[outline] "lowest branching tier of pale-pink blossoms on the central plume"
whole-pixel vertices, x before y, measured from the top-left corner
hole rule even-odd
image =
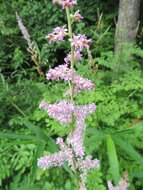
[[[52,155],[44,156],[38,159],[38,167],[42,169],[47,169],[51,167],[57,167],[64,165],[65,162],[71,167],[71,169],[78,170],[81,172],[80,178],[80,189],[86,190],[85,182],[87,173],[90,169],[98,169],[100,162],[99,160],[93,160],[91,156],[87,156],[85,159],[79,159],[77,162],[74,162],[75,156],[73,150],[68,148],[67,145],[63,142],[62,138],[57,139],[57,144],[59,144],[60,151]]]

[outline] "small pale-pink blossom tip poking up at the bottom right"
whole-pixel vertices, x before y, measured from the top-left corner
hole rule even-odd
[[[128,174],[125,173],[123,178],[121,178],[120,182],[119,182],[119,185],[118,186],[113,186],[113,184],[108,181],[108,189],[109,190],[127,190],[129,187],[129,184],[128,184]]]

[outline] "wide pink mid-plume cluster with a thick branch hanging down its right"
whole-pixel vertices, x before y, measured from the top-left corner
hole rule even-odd
[[[84,156],[84,130],[86,116],[95,111],[95,104],[84,106],[74,106],[72,103],[65,100],[56,104],[47,104],[42,101],[39,106],[48,112],[49,116],[59,121],[61,124],[69,124],[72,121],[72,116],[75,116],[76,127],[73,132],[67,137],[67,143],[72,146],[76,156]]]

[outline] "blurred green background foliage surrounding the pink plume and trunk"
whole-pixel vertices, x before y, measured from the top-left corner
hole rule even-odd
[[[89,174],[89,190],[105,190],[106,181],[116,181],[123,171],[129,172],[130,190],[143,188],[142,22],[138,44],[126,46],[120,59],[116,57],[118,3],[79,0],[78,5],[85,19],[75,30],[93,39],[94,64],[88,64],[85,52],[86,59],[77,70],[93,80],[96,89],[76,99],[79,104],[97,105],[96,113],[87,118],[85,145],[87,153],[101,160],[100,170]],[[37,74],[17,26],[16,11],[38,44],[44,73],[63,63],[69,47],[68,43],[49,45],[45,39],[52,28],[66,21],[63,11],[50,0],[0,1],[0,189],[73,190],[75,179],[66,165],[46,171],[36,166],[38,157],[57,150],[54,139],[68,133],[65,126],[39,110],[39,102],[62,99],[67,85],[48,82]],[[118,164],[115,174],[112,166]]]

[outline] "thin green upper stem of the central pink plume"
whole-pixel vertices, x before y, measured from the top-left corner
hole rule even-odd
[[[73,32],[72,32],[72,22],[71,22],[71,18],[70,18],[70,10],[67,7],[66,8],[66,14],[67,14],[67,21],[68,21],[68,32],[69,32],[69,37],[70,40],[72,40],[73,38]],[[72,81],[71,81],[71,101],[74,102],[74,47],[71,44],[71,69],[72,69]]]

